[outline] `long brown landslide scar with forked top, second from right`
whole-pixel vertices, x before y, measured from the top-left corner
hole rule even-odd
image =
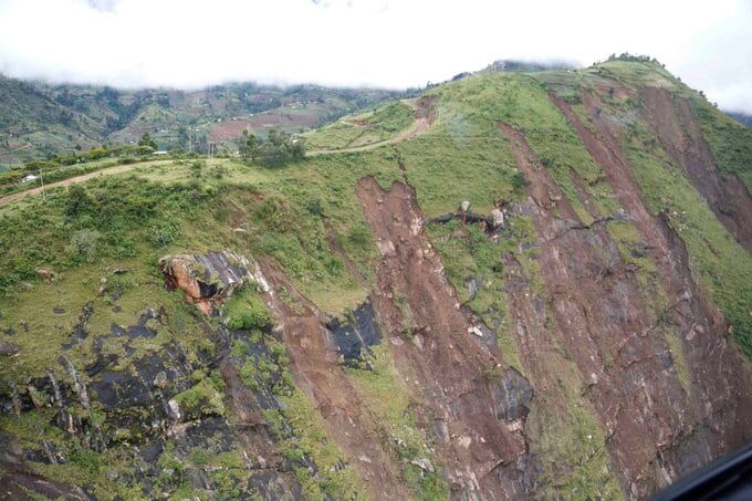
[[[661,484],[752,438],[752,376],[749,364],[730,341],[725,320],[696,284],[683,241],[662,218],[652,216],[647,209],[640,186],[620,150],[619,131],[597,119],[597,96],[583,96],[597,133],[586,127],[567,103],[553,94],[550,96],[575,128],[591,156],[604,169],[627,217],[649,243],[648,249],[657,264],[664,293],[671,305],[667,313],[682,340],[691,372],[691,394],[685,396],[676,408],[680,426],[672,428],[675,432],[665,437],[668,440],[655,442],[651,447],[655,458],[645,458],[644,468],[655,468],[658,479],[664,477]],[[650,384],[655,379],[646,377],[644,382]],[[662,403],[656,400],[658,395],[654,395],[649,386],[646,386],[645,395],[656,404]],[[650,420],[645,425],[655,426]],[[651,490],[649,486],[637,484],[635,494],[645,495]]]

